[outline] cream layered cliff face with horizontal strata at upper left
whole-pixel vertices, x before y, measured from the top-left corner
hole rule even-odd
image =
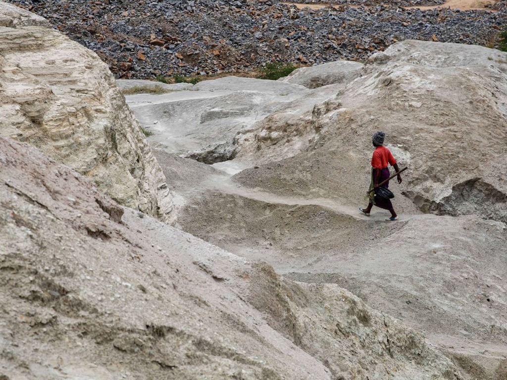
[[[107,66],[38,16],[4,3],[0,15],[0,134],[171,222],[165,177]]]

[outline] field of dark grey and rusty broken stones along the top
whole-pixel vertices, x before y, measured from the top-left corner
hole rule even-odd
[[[437,0],[340,1],[320,10],[277,0],[10,3],[95,51],[117,78],[133,79],[251,70],[269,61],[361,61],[406,39],[488,45],[505,21],[507,4],[490,7],[497,12],[461,12],[401,8]]]

